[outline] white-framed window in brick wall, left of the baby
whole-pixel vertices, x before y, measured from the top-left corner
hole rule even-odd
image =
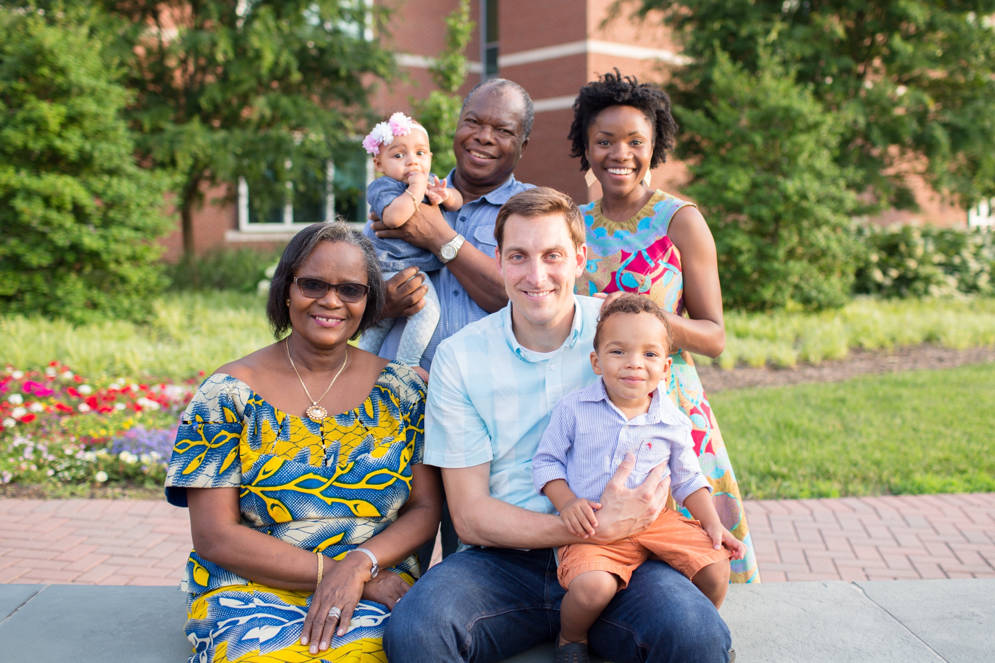
[[[371,177],[368,172],[371,164],[358,141],[327,159],[323,170],[302,164],[296,167],[288,159],[284,162],[289,177],[283,205],[273,204],[272,198],[268,200],[265,195],[254,199],[250,183],[240,177],[239,230],[248,233],[297,232],[335,216],[349,223],[364,224],[368,213],[366,185]],[[266,181],[258,185],[273,191],[277,181],[275,170],[264,170],[262,177]]]

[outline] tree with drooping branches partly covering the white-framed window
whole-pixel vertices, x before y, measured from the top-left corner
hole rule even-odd
[[[360,0],[97,2],[135,91],[138,147],[178,176],[188,254],[209,185],[246,177],[261,217],[323,198],[325,161],[353,147],[369,80],[392,70]]]

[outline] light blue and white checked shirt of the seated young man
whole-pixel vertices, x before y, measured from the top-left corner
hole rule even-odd
[[[594,382],[591,345],[601,300],[576,296],[570,335],[535,353],[511,331],[511,304],[439,345],[425,408],[425,462],[472,467],[491,462],[491,496],[554,513],[532,487],[532,456],[560,399]]]

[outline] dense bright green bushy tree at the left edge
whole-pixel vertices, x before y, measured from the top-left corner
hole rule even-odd
[[[167,182],[135,165],[130,100],[85,17],[0,7],[0,307],[141,318],[166,285]]]

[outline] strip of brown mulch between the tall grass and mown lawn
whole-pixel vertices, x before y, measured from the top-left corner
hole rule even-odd
[[[924,343],[891,351],[852,350],[846,359],[826,361],[818,366],[799,364],[791,369],[739,366],[732,371],[717,366],[699,366],[697,373],[705,391],[713,393],[750,387],[842,382],[868,373],[949,369],[986,362],[995,362],[995,347],[953,350]]]

